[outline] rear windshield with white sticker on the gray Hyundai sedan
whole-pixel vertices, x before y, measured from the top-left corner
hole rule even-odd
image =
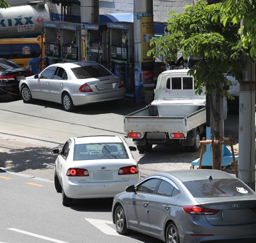
[[[238,179],[192,180],[183,182],[193,197],[247,196],[252,191]]]

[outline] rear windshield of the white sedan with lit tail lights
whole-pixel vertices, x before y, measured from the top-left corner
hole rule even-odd
[[[74,160],[128,158],[123,143],[85,143],[74,146]]]

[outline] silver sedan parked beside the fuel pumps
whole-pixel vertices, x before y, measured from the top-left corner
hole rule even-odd
[[[56,63],[19,83],[23,102],[53,101],[72,111],[77,105],[120,100],[123,81],[94,61]]]

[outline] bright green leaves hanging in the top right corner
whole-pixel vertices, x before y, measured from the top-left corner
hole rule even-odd
[[[231,20],[239,24],[243,19],[240,33],[244,47],[250,47],[251,57],[256,53],[256,1],[255,0],[226,0],[221,7],[223,24]]]

